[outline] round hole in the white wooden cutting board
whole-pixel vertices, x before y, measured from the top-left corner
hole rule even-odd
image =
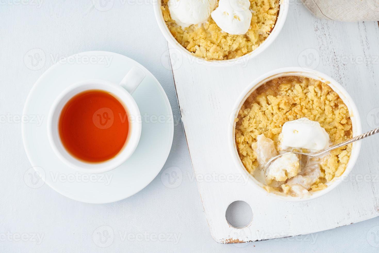
[[[237,200],[226,209],[226,221],[235,228],[244,228],[253,220],[253,211],[245,201]]]

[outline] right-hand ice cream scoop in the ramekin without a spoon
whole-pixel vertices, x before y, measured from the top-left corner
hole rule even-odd
[[[222,31],[241,35],[250,27],[252,14],[249,7],[249,0],[219,0],[211,16]]]

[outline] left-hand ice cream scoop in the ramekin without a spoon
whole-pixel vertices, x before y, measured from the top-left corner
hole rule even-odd
[[[169,0],[171,19],[182,28],[207,21],[217,0]]]

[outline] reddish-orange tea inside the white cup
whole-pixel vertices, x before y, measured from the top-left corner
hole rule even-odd
[[[122,102],[102,90],[72,97],[62,109],[58,127],[67,152],[85,162],[104,162],[116,156],[130,130]]]

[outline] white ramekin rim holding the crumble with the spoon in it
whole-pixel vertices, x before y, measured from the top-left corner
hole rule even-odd
[[[343,179],[347,178],[348,174],[350,173],[350,171],[352,170],[352,168],[354,167],[354,164],[356,163],[358,159],[361,143],[360,141],[356,141],[352,143],[351,155],[350,155],[350,159],[346,167],[346,170],[340,177],[334,178],[332,181],[328,182],[326,189],[316,191],[316,192],[311,192],[311,196],[308,198],[298,198],[298,197],[292,197],[292,196],[287,196],[287,195],[279,195],[277,193],[266,192],[266,190],[263,188],[264,185],[261,182],[259,182],[257,179],[255,179],[250,173],[248,173],[243,163],[241,162],[241,159],[240,159],[240,156],[238,155],[238,151],[235,144],[234,119],[238,116],[238,112],[240,111],[241,106],[245,102],[246,98],[259,86],[277,77],[290,76],[290,75],[300,75],[300,76],[309,77],[316,80],[321,80],[322,82],[330,82],[328,83],[330,88],[332,88],[340,96],[340,98],[343,100],[343,102],[345,102],[346,106],[349,109],[353,136],[362,134],[362,125],[361,125],[357,106],[355,105],[354,101],[352,100],[348,92],[336,80],[315,70],[307,71],[299,67],[288,67],[288,68],[276,69],[258,77],[245,88],[245,90],[238,97],[233,107],[235,108],[235,110],[233,110],[233,112],[235,113],[231,115],[231,119],[230,119],[231,120],[230,122],[233,122],[233,124],[231,124],[231,126],[229,127],[228,142],[229,142],[230,149],[232,152],[232,159],[234,160],[236,167],[241,171],[241,173],[246,173],[251,179],[249,180],[249,182],[252,185],[254,185],[254,187],[256,187],[259,191],[262,191],[266,193],[268,196],[271,196],[273,198],[277,198],[277,199],[285,200],[285,201],[297,202],[297,201],[313,200],[315,198],[318,198],[319,196],[322,196],[326,194],[327,192],[330,192],[331,190],[333,190],[335,187],[337,187],[337,185],[341,181],[344,181]]]

